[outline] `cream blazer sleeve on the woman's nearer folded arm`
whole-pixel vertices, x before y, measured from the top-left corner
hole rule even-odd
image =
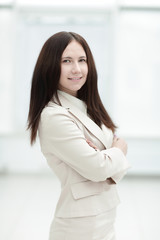
[[[51,108],[49,110],[49,107],[43,110],[39,138],[42,153],[46,158],[54,159],[56,156],[80,175],[94,182],[105,181],[112,176],[117,182],[129,167],[120,149],[113,147],[95,151],[90,147],[65,108],[63,111],[54,111]]]

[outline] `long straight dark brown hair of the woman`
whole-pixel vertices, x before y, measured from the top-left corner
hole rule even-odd
[[[86,52],[88,64],[87,80],[78,91],[77,97],[86,103],[88,114],[98,126],[101,127],[103,123],[113,132],[116,129],[99,96],[97,71],[87,42],[77,33],[59,32],[45,42],[34,68],[27,127],[27,129],[31,131],[31,144],[36,140],[40,115],[43,108],[48,104],[53,95],[55,95],[58,100],[57,90],[61,73],[60,63],[62,53],[73,40],[76,40],[83,47]]]

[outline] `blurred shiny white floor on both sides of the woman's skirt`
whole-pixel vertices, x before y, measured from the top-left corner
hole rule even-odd
[[[117,240],[160,239],[160,177],[118,186]],[[60,192],[54,175],[0,175],[0,239],[47,240]]]

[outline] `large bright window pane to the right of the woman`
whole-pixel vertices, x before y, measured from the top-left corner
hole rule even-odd
[[[121,12],[115,119],[123,134],[160,136],[160,14]]]

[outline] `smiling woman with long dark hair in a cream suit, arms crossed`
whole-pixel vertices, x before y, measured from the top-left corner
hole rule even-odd
[[[97,89],[86,41],[59,32],[44,44],[32,79],[28,128],[61,182],[50,240],[113,240],[116,183],[129,167],[127,145]]]

